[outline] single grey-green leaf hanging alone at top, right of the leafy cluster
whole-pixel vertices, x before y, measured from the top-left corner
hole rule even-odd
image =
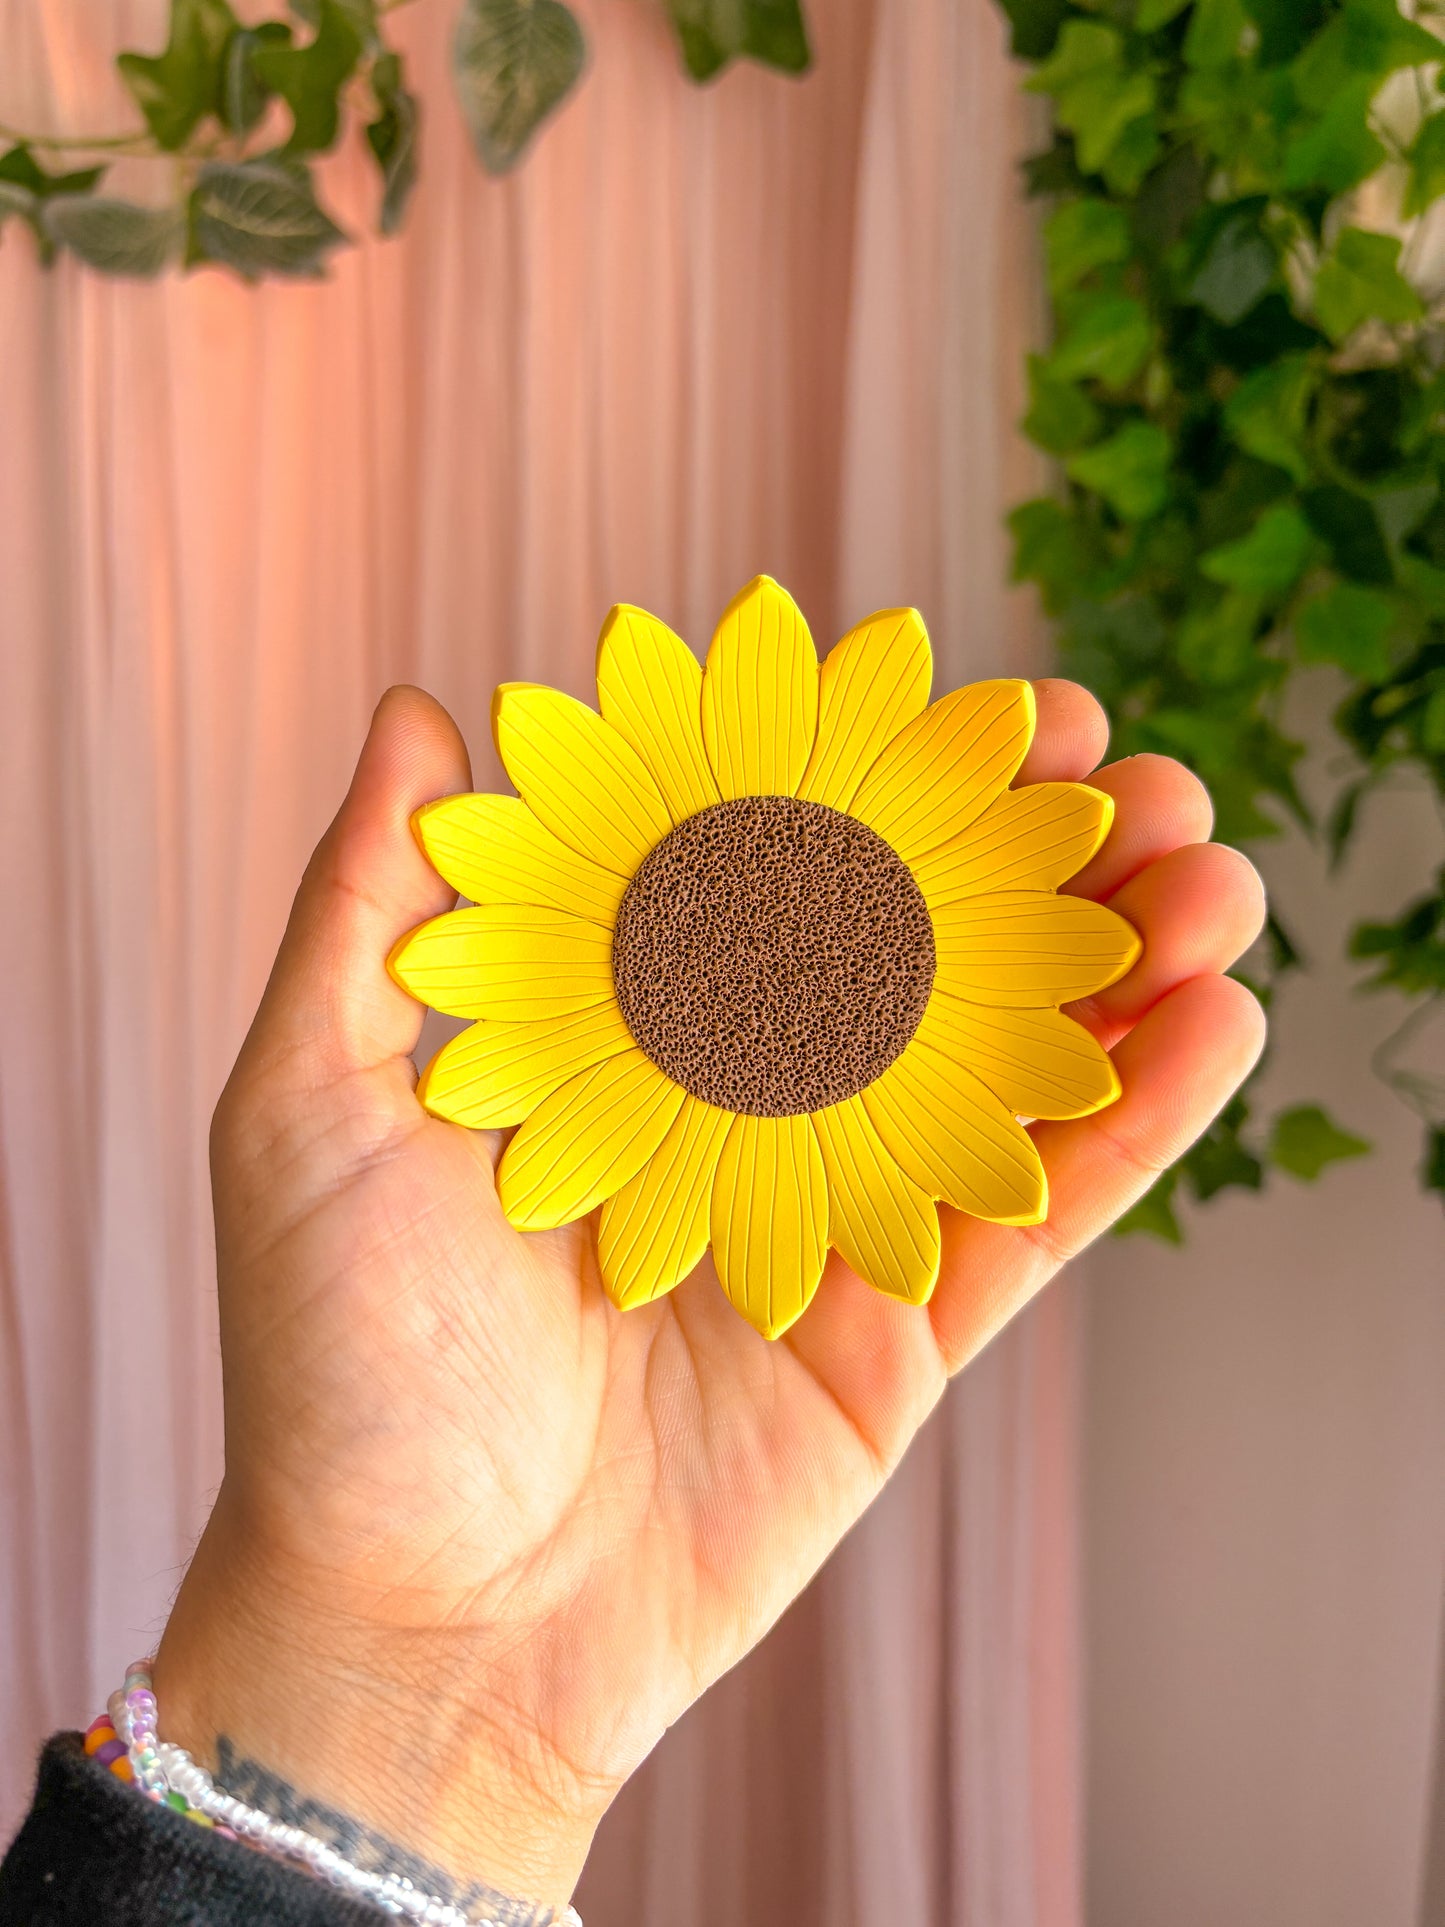
[[[561,0],[464,0],[453,75],[472,143],[489,173],[507,173],[568,96],[588,48]]]

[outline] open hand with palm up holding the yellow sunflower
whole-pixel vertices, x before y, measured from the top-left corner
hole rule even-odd
[[[1019,777],[1079,780],[1104,719],[1040,682]],[[959,1370],[1204,1129],[1258,1056],[1220,975],[1258,935],[1177,763],[1090,777],[1112,834],[1071,890],[1144,937],[1073,1006],[1121,1100],[1040,1123],[1044,1224],[940,1208],[927,1308],[836,1254],[776,1343],[711,1276],[618,1312],[590,1224],[522,1235],[497,1133],[430,1118],[393,942],[453,902],[410,811],[468,788],[449,717],[383,698],[216,1112],[225,1480],[156,1680],[168,1738],[220,1736],[464,1881],[561,1902],[665,1727],[773,1624]],[[709,1274],[711,1266],[703,1266]]]

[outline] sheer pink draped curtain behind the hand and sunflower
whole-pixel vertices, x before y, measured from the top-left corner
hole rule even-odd
[[[127,123],[164,0],[0,0],[0,119]],[[160,1626],[220,1476],[206,1123],[381,688],[590,696],[611,601],[705,644],[755,570],[827,642],[929,617],[938,686],[1040,667],[1006,592],[1037,326],[992,0],[811,0],[817,71],[697,91],[655,0],[487,181],[453,8],[405,237],[322,285],[0,249],[0,1819]],[[148,173],[133,173],[144,193]],[[356,156],[326,189],[364,231]],[[1077,1927],[1075,1310],[954,1387],[775,1636],[609,1817],[590,1927]]]

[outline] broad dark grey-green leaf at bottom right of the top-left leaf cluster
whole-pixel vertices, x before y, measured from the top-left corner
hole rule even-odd
[[[310,173],[277,160],[208,162],[191,195],[191,258],[314,279],[345,233],[316,200]]]

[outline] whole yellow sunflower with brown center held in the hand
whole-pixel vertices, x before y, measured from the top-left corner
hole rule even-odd
[[[1019,1118],[1119,1095],[1060,1004],[1121,977],[1139,938],[1056,896],[1104,840],[1081,782],[1012,790],[1027,682],[929,705],[913,609],[859,622],[819,669],[767,576],[728,605],[699,669],[642,609],[597,649],[601,715],[509,682],[493,734],[520,798],[416,813],[476,908],[405,937],[412,996],[474,1017],[422,1104],[518,1125],[497,1185],[520,1229],[601,1204],[624,1310],[713,1247],[767,1337],[803,1312],[828,1247],[923,1305],[936,1199],[1037,1224],[1044,1170]]]

